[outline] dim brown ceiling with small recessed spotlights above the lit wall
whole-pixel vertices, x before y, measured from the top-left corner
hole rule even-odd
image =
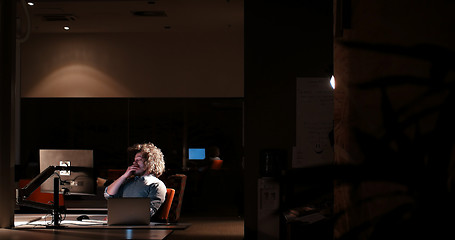
[[[31,33],[243,31],[243,0],[34,0],[17,10]]]

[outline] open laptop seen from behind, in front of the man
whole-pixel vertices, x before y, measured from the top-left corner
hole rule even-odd
[[[150,198],[107,199],[107,225],[149,225]]]

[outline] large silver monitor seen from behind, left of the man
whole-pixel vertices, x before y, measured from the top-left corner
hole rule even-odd
[[[96,180],[93,171],[93,150],[40,149],[40,171],[49,166],[77,167],[76,170],[57,170],[61,184],[59,192],[70,195],[96,194]],[[56,175],[57,176],[57,175]],[[54,176],[49,177],[42,185],[41,192],[54,192]]]

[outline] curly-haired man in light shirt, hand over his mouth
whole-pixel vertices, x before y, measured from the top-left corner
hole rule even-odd
[[[166,198],[166,185],[158,179],[164,172],[164,155],[152,143],[135,144],[128,148],[134,161],[125,173],[104,190],[104,197],[149,197],[150,217]]]

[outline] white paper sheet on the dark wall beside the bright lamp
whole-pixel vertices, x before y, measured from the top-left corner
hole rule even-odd
[[[333,89],[330,78],[297,78],[296,146],[292,167],[330,164],[333,147]]]

